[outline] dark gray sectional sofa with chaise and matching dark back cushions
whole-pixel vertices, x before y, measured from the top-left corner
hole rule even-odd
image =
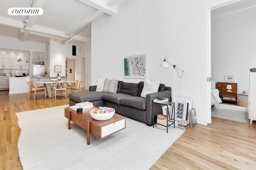
[[[140,97],[144,82],[127,83],[118,81],[117,93],[97,92],[96,86],[90,86],[89,91],[73,92],[68,95],[69,106],[74,106],[80,102],[92,102],[94,106],[112,107],[116,113],[125,117],[141,121],[148,126],[153,125],[153,117],[160,113],[160,104],[154,104],[156,98],[169,98],[171,100],[172,92],[170,87],[160,84],[158,92],[146,95],[146,98]]]

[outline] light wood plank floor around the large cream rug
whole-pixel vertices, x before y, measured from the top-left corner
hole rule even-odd
[[[68,98],[62,96],[57,100],[44,99],[43,95],[28,100],[27,93],[0,92],[0,169],[22,169],[17,148],[20,128],[16,112],[68,103]],[[151,168],[171,169],[256,169],[256,125],[212,117],[212,124],[189,128]]]

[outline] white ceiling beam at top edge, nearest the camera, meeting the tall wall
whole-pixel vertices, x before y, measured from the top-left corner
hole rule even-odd
[[[78,0],[78,1],[86,4],[87,6],[100,10],[110,16],[116,14],[116,6],[113,6],[110,8],[105,4],[99,4],[98,0]]]

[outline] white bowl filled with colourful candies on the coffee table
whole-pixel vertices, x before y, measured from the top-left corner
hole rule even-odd
[[[90,111],[90,114],[95,120],[108,120],[113,117],[115,109],[111,107],[98,107]]]

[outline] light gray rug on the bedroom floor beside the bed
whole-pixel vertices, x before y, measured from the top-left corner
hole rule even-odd
[[[245,108],[242,106],[218,104],[217,107],[212,108],[212,116],[247,123]]]

